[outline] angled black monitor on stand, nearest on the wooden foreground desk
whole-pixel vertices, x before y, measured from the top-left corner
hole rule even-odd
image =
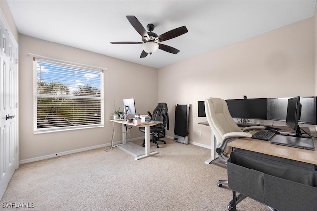
[[[298,121],[301,119],[302,104],[300,103],[300,97],[293,97],[288,99],[287,113],[286,113],[286,125],[293,130],[295,133],[282,133],[281,135],[310,138],[310,136],[303,135],[298,125]]]

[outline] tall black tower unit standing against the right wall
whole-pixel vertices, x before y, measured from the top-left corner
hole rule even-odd
[[[189,104],[175,106],[174,141],[188,144]]]

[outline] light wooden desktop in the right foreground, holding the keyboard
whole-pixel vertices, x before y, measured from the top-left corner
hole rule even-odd
[[[315,150],[299,149],[295,147],[271,144],[269,141],[262,141],[252,138],[238,138],[228,143],[228,146],[259,152],[267,155],[287,158],[305,163],[317,165],[317,140],[314,138]]]

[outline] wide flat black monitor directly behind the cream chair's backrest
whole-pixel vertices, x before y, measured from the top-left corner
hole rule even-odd
[[[267,98],[226,100],[233,118],[267,119]]]

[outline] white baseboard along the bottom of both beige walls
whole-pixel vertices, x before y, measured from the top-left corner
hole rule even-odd
[[[165,137],[166,138],[170,138],[172,140],[174,139],[174,137],[172,137],[172,136],[165,136]],[[128,139],[127,142],[136,141],[136,140],[140,140],[140,139],[144,139],[144,137],[142,136],[142,137],[137,137],[137,138],[131,138],[131,139]],[[117,145],[117,144],[121,144],[121,143],[122,143],[121,141],[116,141],[116,142],[113,142],[113,145]],[[199,146],[199,147],[204,147],[204,148],[207,148],[207,149],[211,149],[211,146],[200,144],[200,143],[196,143],[196,142],[193,142],[193,141],[189,141],[188,143],[196,145],[196,146]],[[41,161],[41,160],[54,158],[54,157],[59,157],[59,156],[63,156],[63,155],[69,155],[69,154],[73,154],[73,153],[84,152],[84,151],[88,151],[88,150],[108,147],[110,145],[111,145],[111,143],[101,144],[101,145],[85,147],[85,148],[81,148],[81,149],[75,149],[75,150],[69,150],[69,151],[54,153],[54,154],[50,154],[50,155],[39,156],[39,157],[35,157],[35,158],[28,158],[28,159],[20,160],[19,164],[26,164],[26,163],[30,163],[30,162],[34,162],[34,161]]]

